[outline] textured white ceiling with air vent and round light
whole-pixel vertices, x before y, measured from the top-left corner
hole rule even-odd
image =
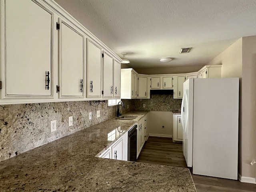
[[[129,67],[203,66],[256,35],[256,0],[56,0]],[[192,47],[188,54],[180,48]],[[162,57],[173,58],[161,63]]]

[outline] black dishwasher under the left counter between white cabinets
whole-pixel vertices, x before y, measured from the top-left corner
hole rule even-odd
[[[128,131],[128,161],[137,160],[137,125]]]

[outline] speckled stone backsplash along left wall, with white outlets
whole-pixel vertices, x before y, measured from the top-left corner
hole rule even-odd
[[[127,104],[130,101],[124,101]],[[131,105],[131,103],[129,104]],[[0,106],[0,161],[38,146],[47,144],[116,115],[116,106],[90,106],[88,101]],[[132,106],[131,106],[132,108]],[[125,111],[131,110],[125,109]],[[96,118],[96,111],[100,117]],[[89,120],[89,112],[92,119]],[[73,116],[73,126],[68,117]],[[51,132],[50,121],[56,119],[56,131]]]

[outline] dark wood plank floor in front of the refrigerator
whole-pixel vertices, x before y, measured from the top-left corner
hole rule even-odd
[[[182,144],[171,138],[149,137],[138,162],[187,167],[182,154]],[[191,173],[192,174],[192,173]],[[256,184],[192,174],[197,192],[256,192]]]

